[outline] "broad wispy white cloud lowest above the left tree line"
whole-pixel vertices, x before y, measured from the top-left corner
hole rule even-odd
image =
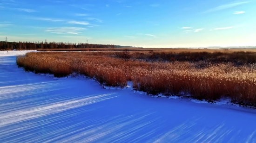
[[[46,31],[55,33],[55,34],[79,34],[80,31],[84,31],[86,28],[81,27],[55,27],[55,28],[48,28]]]

